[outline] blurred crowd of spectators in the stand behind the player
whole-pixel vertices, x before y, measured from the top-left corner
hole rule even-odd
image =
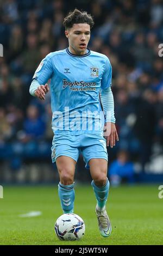
[[[89,48],[109,57],[121,150],[149,161],[154,143],[163,146],[162,0],[0,0],[0,160],[19,168],[23,157],[51,155],[51,99],[30,96],[40,61],[68,46],[62,21],[74,8],[95,20]]]

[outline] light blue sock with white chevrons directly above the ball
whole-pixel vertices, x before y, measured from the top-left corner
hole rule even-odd
[[[59,182],[58,193],[59,193],[61,208],[64,211],[64,214],[73,213],[73,206],[74,206],[74,184],[62,185]]]

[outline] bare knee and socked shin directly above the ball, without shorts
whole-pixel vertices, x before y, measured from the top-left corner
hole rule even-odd
[[[58,193],[62,210],[65,213],[73,212],[74,208],[74,172],[76,161],[71,157],[59,156],[56,160],[60,177]]]

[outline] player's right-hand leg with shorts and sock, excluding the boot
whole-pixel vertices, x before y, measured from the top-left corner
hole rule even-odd
[[[103,210],[109,192],[106,140],[102,135],[84,135],[83,141],[82,154],[86,167],[90,166],[90,173],[93,179],[92,186],[97,199],[97,209]]]

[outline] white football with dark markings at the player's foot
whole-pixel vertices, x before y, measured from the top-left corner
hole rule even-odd
[[[84,221],[77,214],[63,214],[55,222],[55,234],[60,240],[80,240],[84,233]]]

